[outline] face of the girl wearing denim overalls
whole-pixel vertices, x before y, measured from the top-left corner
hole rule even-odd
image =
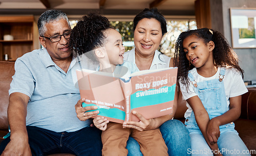
[[[205,44],[202,39],[196,36],[188,36],[183,41],[184,53],[187,60],[196,68],[214,66],[212,50],[214,42],[210,41]]]

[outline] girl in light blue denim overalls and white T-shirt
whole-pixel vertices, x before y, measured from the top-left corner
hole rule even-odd
[[[234,129],[247,92],[236,53],[217,31],[207,28],[180,34],[175,63],[187,100],[185,125],[192,154],[244,154],[247,149]],[[245,152],[246,153],[246,152]]]

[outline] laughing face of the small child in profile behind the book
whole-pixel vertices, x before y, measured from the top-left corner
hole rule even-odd
[[[123,64],[124,46],[122,44],[122,37],[120,33],[114,29],[108,29],[105,31],[105,34],[105,50],[110,64]]]

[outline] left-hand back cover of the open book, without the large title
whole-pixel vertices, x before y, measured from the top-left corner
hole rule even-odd
[[[81,98],[86,98],[83,107],[97,106],[98,116],[112,122],[123,123],[125,119],[125,96],[120,79],[113,76],[77,70]],[[95,110],[94,110],[95,111]]]

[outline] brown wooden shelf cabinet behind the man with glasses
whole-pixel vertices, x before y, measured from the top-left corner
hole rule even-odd
[[[13,40],[4,40],[5,35]],[[15,61],[39,48],[37,25],[33,16],[0,16],[0,61]]]

